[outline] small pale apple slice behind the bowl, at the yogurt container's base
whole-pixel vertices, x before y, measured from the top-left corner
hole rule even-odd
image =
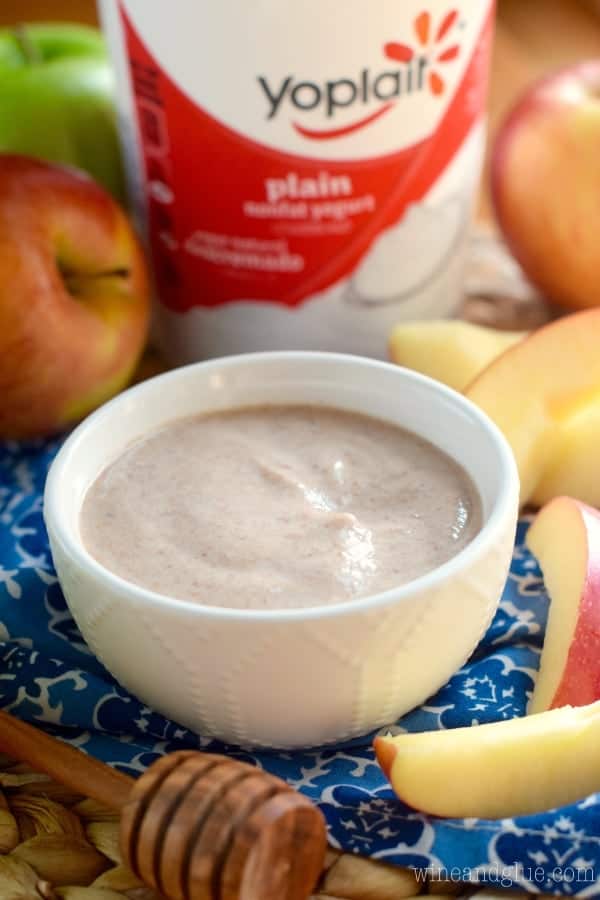
[[[459,319],[406,322],[397,325],[389,341],[390,358],[462,391],[482,369],[526,331],[498,331]]]

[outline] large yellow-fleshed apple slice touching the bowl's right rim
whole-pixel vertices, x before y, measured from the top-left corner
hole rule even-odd
[[[497,357],[466,395],[513,449],[528,503],[552,465],[561,429],[600,398],[600,309],[545,325]]]

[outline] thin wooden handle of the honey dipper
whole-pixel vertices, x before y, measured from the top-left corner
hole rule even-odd
[[[2,710],[0,750],[111,809],[122,809],[134,785],[127,775]]]

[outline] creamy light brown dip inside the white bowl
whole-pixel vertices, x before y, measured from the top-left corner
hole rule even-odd
[[[85,546],[171,597],[284,609],[410,581],[477,533],[467,474],[414,434],[326,407],[179,419],[92,484]]]

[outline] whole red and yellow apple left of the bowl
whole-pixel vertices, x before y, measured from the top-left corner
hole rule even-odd
[[[124,387],[148,318],[144,255],[110,195],[0,155],[0,437],[62,430]]]

